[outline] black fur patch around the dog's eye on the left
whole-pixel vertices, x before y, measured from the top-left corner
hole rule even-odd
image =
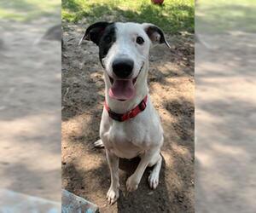
[[[102,63],[102,59],[108,54],[108,50],[112,47],[115,41],[116,41],[116,28],[114,23],[109,23],[109,25],[104,30],[98,45],[100,49],[99,56],[100,56],[101,63]]]

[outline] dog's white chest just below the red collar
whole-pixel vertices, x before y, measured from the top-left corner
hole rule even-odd
[[[100,135],[105,147],[119,158],[134,158],[154,147],[162,136],[160,123],[143,117],[141,113],[126,123],[109,122],[103,112]]]

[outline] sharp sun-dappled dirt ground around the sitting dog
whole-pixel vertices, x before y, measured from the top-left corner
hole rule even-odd
[[[86,26],[63,23],[62,49],[62,187],[100,207],[101,212],[194,212],[194,37],[166,35],[172,49],[151,50],[148,83],[165,131],[160,185],[148,187],[149,170],[136,192],[125,180],[137,160],[119,166],[120,198],[108,205],[110,173],[104,149],[96,149],[104,101],[98,49],[79,38]]]

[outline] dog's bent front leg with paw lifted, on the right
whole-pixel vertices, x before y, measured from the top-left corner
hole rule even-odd
[[[152,159],[156,158],[159,155],[158,150],[150,150],[145,152],[141,156],[141,161],[137,166],[135,172],[127,179],[126,188],[128,192],[135,191],[138,187],[139,182],[143,177],[143,173],[146,170],[148,164],[152,161]]]

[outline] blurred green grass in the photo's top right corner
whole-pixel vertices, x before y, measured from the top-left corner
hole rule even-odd
[[[219,33],[256,32],[255,0],[199,0],[196,5],[196,31]]]

